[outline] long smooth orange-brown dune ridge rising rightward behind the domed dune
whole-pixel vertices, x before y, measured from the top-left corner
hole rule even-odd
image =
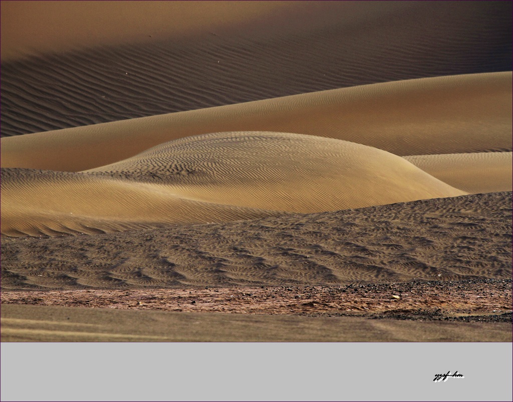
[[[400,156],[510,151],[511,78],[499,72],[371,84],[2,138],[1,163],[80,171],[170,140],[242,130],[336,138]]]

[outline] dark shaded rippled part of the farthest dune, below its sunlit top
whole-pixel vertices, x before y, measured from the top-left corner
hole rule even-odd
[[[127,37],[125,45],[5,62],[1,134],[511,70],[511,2],[304,3],[303,15],[293,4],[260,22],[227,21],[223,32],[140,45]]]

